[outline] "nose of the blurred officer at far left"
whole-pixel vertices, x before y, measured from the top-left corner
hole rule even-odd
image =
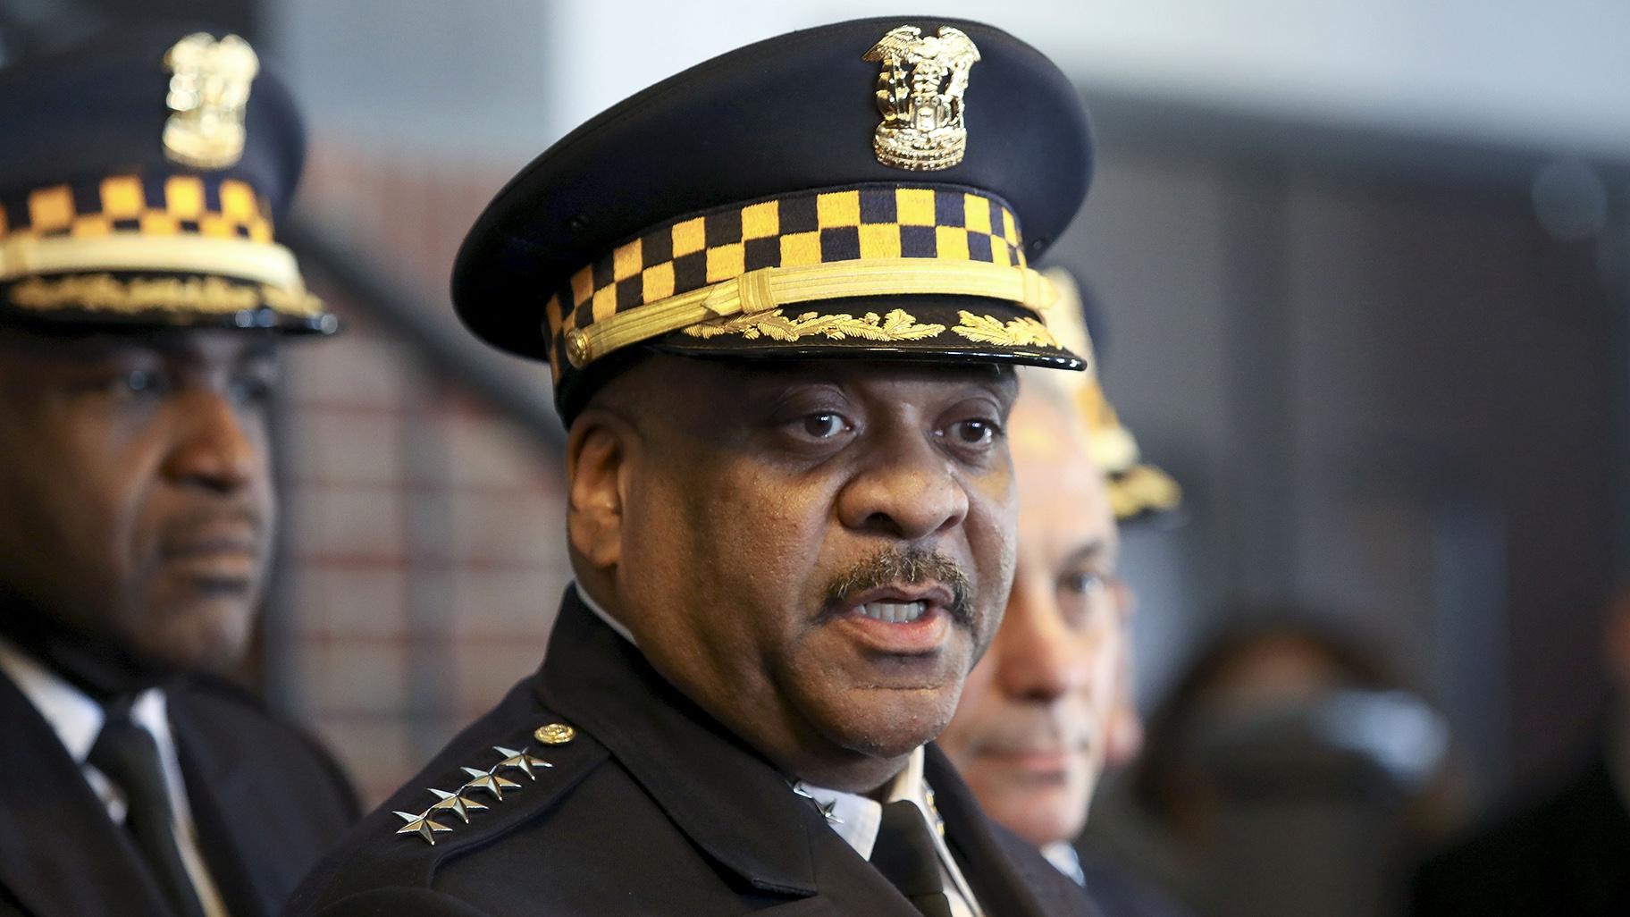
[[[189,390],[176,403],[178,432],[165,460],[165,475],[176,483],[231,493],[248,488],[261,473],[262,437],[256,419],[246,419],[222,392]]]

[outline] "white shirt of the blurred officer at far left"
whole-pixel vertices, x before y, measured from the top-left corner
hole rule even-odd
[[[108,817],[122,826],[129,808],[124,791],[85,760],[101,733],[104,718],[101,705],[5,640],[0,640],[0,672],[51,723],[68,757],[80,765],[80,773],[85,775],[91,791],[108,808]],[[204,865],[204,857],[199,853],[197,826],[192,822],[187,788],[181,780],[176,739],[170,734],[165,692],[148,689],[139,693],[130,705],[130,720],[147,729],[158,742],[158,759],[165,770],[165,785],[170,790],[171,831],[176,834],[176,847],[181,848],[181,862],[186,865],[192,888],[204,906],[204,917],[230,917],[227,906],[222,904],[220,891]]]

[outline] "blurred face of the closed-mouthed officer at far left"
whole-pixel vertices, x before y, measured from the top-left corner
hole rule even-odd
[[[134,664],[218,667],[272,543],[272,341],[0,330],[0,589]]]

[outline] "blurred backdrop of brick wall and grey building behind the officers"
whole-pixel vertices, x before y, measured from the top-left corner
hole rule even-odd
[[[1180,525],[1126,534],[1144,708],[1211,635],[1307,622],[1423,705],[1415,733],[1382,723],[1454,773],[1451,822],[1566,769],[1606,716],[1602,609],[1630,560],[1630,5],[932,10],[1037,44],[1094,116],[1092,194],[1048,261],[1094,290],[1105,388],[1187,491]],[[280,235],[349,331],[290,348],[280,586],[244,677],[368,801],[536,666],[569,581],[546,374],[447,303],[465,230],[619,98],[880,11],[0,0],[7,55],[108,20],[214,23],[303,103]]]

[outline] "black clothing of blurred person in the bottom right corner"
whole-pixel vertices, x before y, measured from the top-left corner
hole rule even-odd
[[[1630,811],[1604,757],[1562,793],[1430,860],[1418,917],[1630,914]]]

